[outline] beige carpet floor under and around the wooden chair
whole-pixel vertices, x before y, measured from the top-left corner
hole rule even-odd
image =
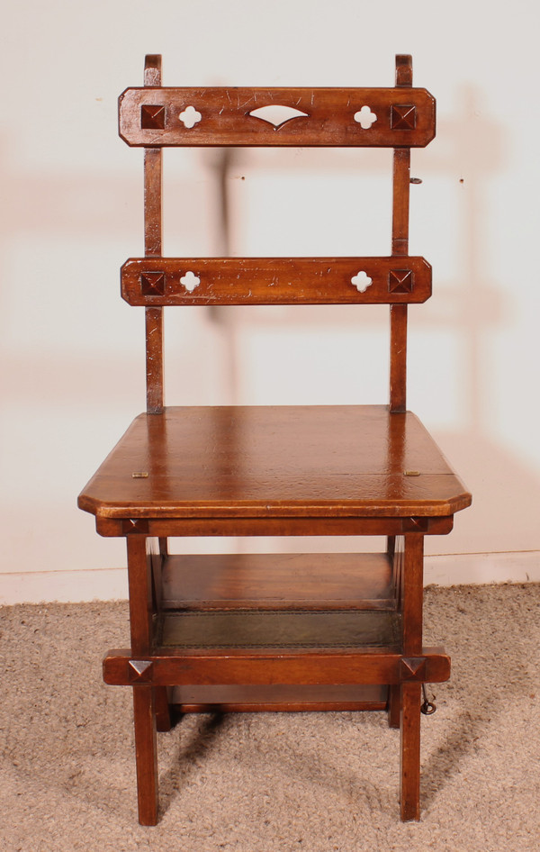
[[[540,849],[540,585],[430,588],[453,676],[422,720],[422,819],[398,818],[383,713],[188,716],[137,822],[130,691],[101,681],[125,603],[0,608],[2,852]]]

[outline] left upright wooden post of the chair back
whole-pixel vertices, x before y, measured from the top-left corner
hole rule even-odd
[[[161,86],[161,57],[145,59],[144,85]],[[161,257],[162,210],[161,148],[144,150],[144,254],[145,258]],[[145,308],[147,412],[163,412],[163,308]]]

